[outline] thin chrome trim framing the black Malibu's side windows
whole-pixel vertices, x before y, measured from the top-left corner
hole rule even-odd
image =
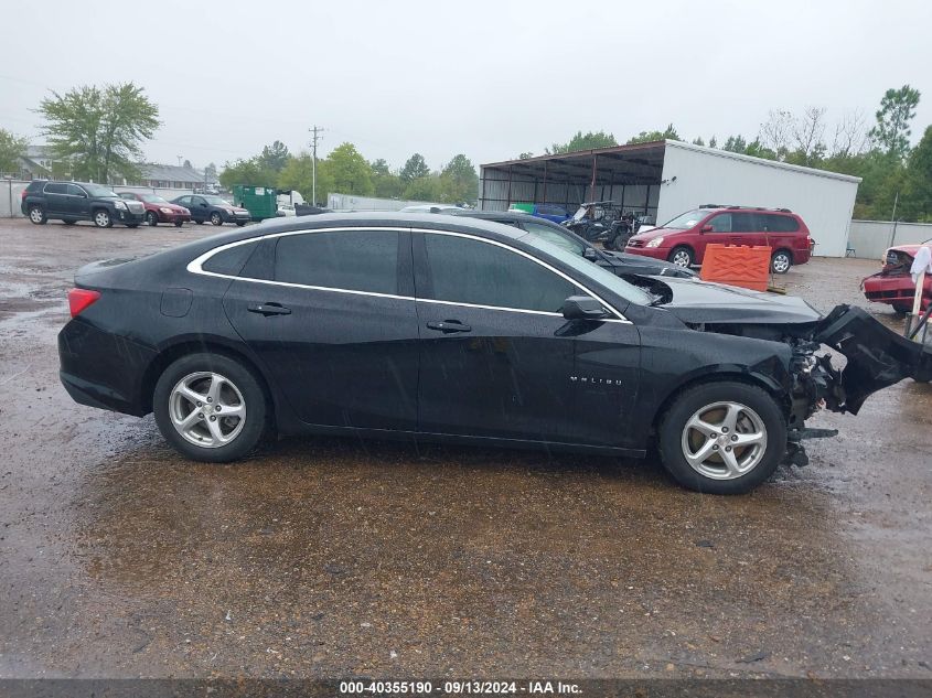
[[[559,269],[554,268],[553,266],[550,266],[546,261],[544,261],[542,259],[537,259],[536,257],[534,257],[533,255],[528,255],[524,250],[516,249],[514,247],[511,247],[511,246],[505,245],[504,243],[500,243],[497,240],[490,240],[490,239],[484,238],[484,237],[479,237],[479,236],[475,236],[475,235],[469,235],[469,234],[465,234],[465,233],[454,233],[454,232],[451,232],[451,230],[435,230],[432,228],[409,228],[409,227],[400,227],[400,226],[354,226],[354,227],[342,227],[341,226],[341,227],[331,227],[331,228],[311,228],[311,229],[301,229],[301,230],[286,230],[283,233],[270,233],[268,235],[260,235],[258,237],[249,237],[249,238],[246,238],[245,240],[236,240],[235,243],[227,243],[226,245],[221,245],[219,247],[214,247],[213,249],[208,249],[206,253],[195,257],[190,262],[188,262],[188,266],[185,267],[185,269],[189,273],[196,273],[196,275],[201,275],[201,276],[205,276],[205,277],[215,277],[217,279],[229,279],[229,280],[235,280],[235,281],[249,281],[251,283],[264,283],[266,286],[283,286],[286,288],[308,289],[310,291],[330,291],[330,292],[333,292],[333,293],[350,293],[352,296],[369,296],[369,297],[373,297],[373,298],[388,298],[388,299],[393,299],[393,300],[403,300],[403,301],[421,301],[424,303],[435,303],[435,304],[441,304],[441,305],[460,305],[460,307],[463,307],[463,308],[478,308],[478,309],[482,309],[482,310],[501,310],[501,311],[504,311],[504,312],[527,313],[527,314],[533,314],[533,315],[549,315],[549,316],[555,316],[555,318],[563,318],[561,313],[543,311],[543,310],[527,310],[525,308],[505,308],[505,307],[502,307],[502,305],[479,305],[479,304],[475,304],[475,303],[461,303],[461,302],[458,302],[458,301],[444,301],[444,300],[432,299],[432,298],[417,298],[417,297],[414,297],[414,296],[397,296],[397,294],[394,294],[394,293],[378,293],[378,292],[375,292],[375,291],[357,291],[355,289],[338,289],[338,288],[332,288],[332,287],[328,287],[328,286],[311,286],[311,284],[307,284],[307,283],[292,283],[290,281],[275,281],[272,279],[254,279],[251,277],[237,277],[237,276],[234,276],[234,275],[231,275],[231,273],[219,273],[219,272],[216,272],[216,271],[206,271],[203,268],[204,262],[207,261],[214,255],[218,255],[219,253],[225,251],[227,249],[233,249],[234,247],[239,247],[240,245],[250,245],[250,244],[254,244],[254,243],[256,245],[259,245],[266,239],[272,239],[272,238],[277,238],[277,237],[288,237],[288,236],[291,236],[291,235],[307,235],[307,234],[311,234],[311,233],[333,233],[333,232],[344,232],[344,230],[363,230],[363,232],[384,230],[384,232],[389,232],[389,233],[431,233],[431,234],[439,234],[439,235],[449,235],[449,236],[452,236],[452,237],[465,237],[465,238],[470,238],[470,239],[473,239],[473,240],[479,240],[480,243],[488,243],[490,245],[495,245],[497,247],[502,247],[502,248],[507,249],[512,253],[515,253],[516,255],[521,255],[523,257],[526,257],[527,259],[531,259],[532,261],[540,265],[542,267],[549,269],[550,271],[553,271],[557,276],[561,277],[566,281],[569,281],[574,286],[582,289],[586,293],[588,293],[589,296],[591,296],[592,298],[598,300],[600,303],[602,303],[602,305],[608,308],[609,311],[611,311],[614,315],[617,315],[617,318],[608,318],[608,319],[602,320],[601,322],[619,322],[619,323],[624,323],[624,324],[632,324],[630,320],[628,320],[624,315],[622,315],[610,303],[606,302],[598,293],[593,293],[588,288],[586,288],[583,284],[581,284],[579,281],[577,281],[576,279],[572,279],[571,277],[564,273]]]

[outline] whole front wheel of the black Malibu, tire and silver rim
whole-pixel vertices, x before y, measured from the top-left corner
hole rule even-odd
[[[696,426],[697,417],[704,426]],[[674,480],[709,494],[753,490],[786,452],[786,420],[775,400],[761,388],[731,380],[684,390],[663,416],[657,436],[661,462]],[[740,452],[731,445],[736,436],[749,440]],[[750,441],[754,436],[758,440]]]

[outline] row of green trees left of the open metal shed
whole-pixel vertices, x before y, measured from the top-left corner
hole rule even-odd
[[[226,163],[219,181],[227,189],[253,184],[296,190],[310,201],[313,161],[308,152],[292,155],[277,140],[251,158]],[[479,175],[462,153],[437,171],[431,171],[420,153],[414,153],[404,167],[393,170],[384,159],[368,161],[353,143],[344,142],[317,162],[318,202],[326,202],[331,193],[473,205],[479,193]]]

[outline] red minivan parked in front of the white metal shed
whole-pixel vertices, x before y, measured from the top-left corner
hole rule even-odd
[[[773,250],[770,266],[776,273],[807,262],[813,245],[806,224],[789,208],[709,205],[633,235],[624,251],[692,267],[703,264],[709,243],[769,246]]]

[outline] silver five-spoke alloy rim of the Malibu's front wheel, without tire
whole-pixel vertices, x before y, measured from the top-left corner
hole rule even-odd
[[[767,452],[767,427],[740,402],[713,402],[686,421],[683,455],[689,466],[711,480],[736,480],[751,472]]]

